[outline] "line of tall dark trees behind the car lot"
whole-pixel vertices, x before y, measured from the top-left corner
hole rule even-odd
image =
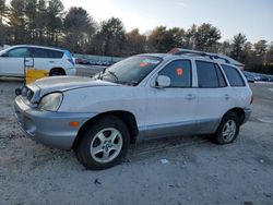
[[[167,52],[180,47],[222,52],[246,69],[273,74],[273,43],[254,44],[244,34],[221,43],[221,31],[211,24],[190,28],[157,26],[145,35],[127,32],[117,17],[96,23],[83,8],[68,12],[60,0],[0,0],[0,45],[35,44],[70,49],[71,52],[128,57]]]

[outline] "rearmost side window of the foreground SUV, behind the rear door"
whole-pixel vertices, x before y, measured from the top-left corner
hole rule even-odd
[[[246,86],[245,81],[242,80],[239,71],[233,67],[228,67],[225,64],[222,64],[222,68],[224,69],[227,80],[233,87],[241,87]]]

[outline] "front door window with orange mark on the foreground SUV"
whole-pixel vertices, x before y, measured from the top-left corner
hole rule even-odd
[[[170,79],[170,87],[191,87],[191,62],[189,60],[176,60],[167,64],[159,75]]]

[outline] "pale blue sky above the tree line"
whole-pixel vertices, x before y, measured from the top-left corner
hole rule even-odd
[[[127,31],[141,33],[155,26],[182,27],[211,23],[222,32],[222,40],[241,32],[248,40],[273,41],[273,0],[62,0],[68,9],[83,7],[100,22],[119,17]]]

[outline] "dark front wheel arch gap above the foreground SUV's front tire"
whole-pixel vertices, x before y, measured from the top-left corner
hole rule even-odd
[[[106,111],[103,113],[99,113],[95,116],[94,118],[87,120],[79,130],[76,137],[74,140],[74,143],[72,145],[72,148],[75,148],[78,143],[81,140],[82,133],[85,131],[87,126],[91,124],[95,123],[98,119],[105,118],[107,116],[115,116],[122,120],[124,124],[128,126],[129,133],[130,133],[130,144],[134,144],[136,141],[136,136],[139,134],[139,129],[136,124],[136,120],[133,113],[129,111],[123,111],[123,110],[112,110],[112,111]]]

